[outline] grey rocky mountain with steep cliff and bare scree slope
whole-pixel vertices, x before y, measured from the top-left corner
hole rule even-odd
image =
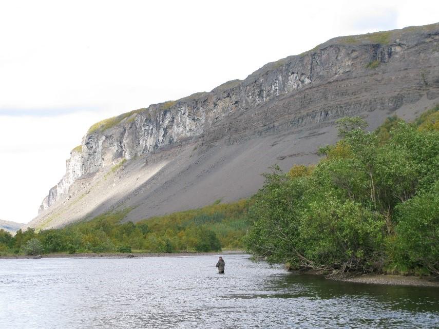
[[[90,127],[50,189],[35,228],[107,211],[126,220],[253,195],[261,173],[318,160],[335,120],[414,119],[439,103],[439,24],[336,37],[211,92]]]

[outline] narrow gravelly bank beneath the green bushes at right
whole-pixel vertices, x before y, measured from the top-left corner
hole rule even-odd
[[[389,284],[389,285],[414,285],[424,287],[439,287],[439,281],[432,278],[421,278],[416,276],[400,276],[389,274],[365,274],[358,277],[334,279],[337,281],[369,283],[369,284]]]

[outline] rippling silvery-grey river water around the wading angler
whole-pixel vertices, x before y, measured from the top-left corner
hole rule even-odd
[[[439,289],[294,275],[248,255],[0,260],[0,327],[439,328]]]

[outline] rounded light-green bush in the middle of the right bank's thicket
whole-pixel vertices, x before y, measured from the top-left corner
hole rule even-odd
[[[351,200],[328,194],[303,211],[298,246],[313,267],[372,272],[382,264],[384,220]]]

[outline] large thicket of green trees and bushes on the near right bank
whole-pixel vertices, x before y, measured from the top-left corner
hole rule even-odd
[[[339,120],[343,138],[315,167],[265,175],[247,249],[291,268],[439,275],[437,109],[412,125],[389,118],[375,132]]]

